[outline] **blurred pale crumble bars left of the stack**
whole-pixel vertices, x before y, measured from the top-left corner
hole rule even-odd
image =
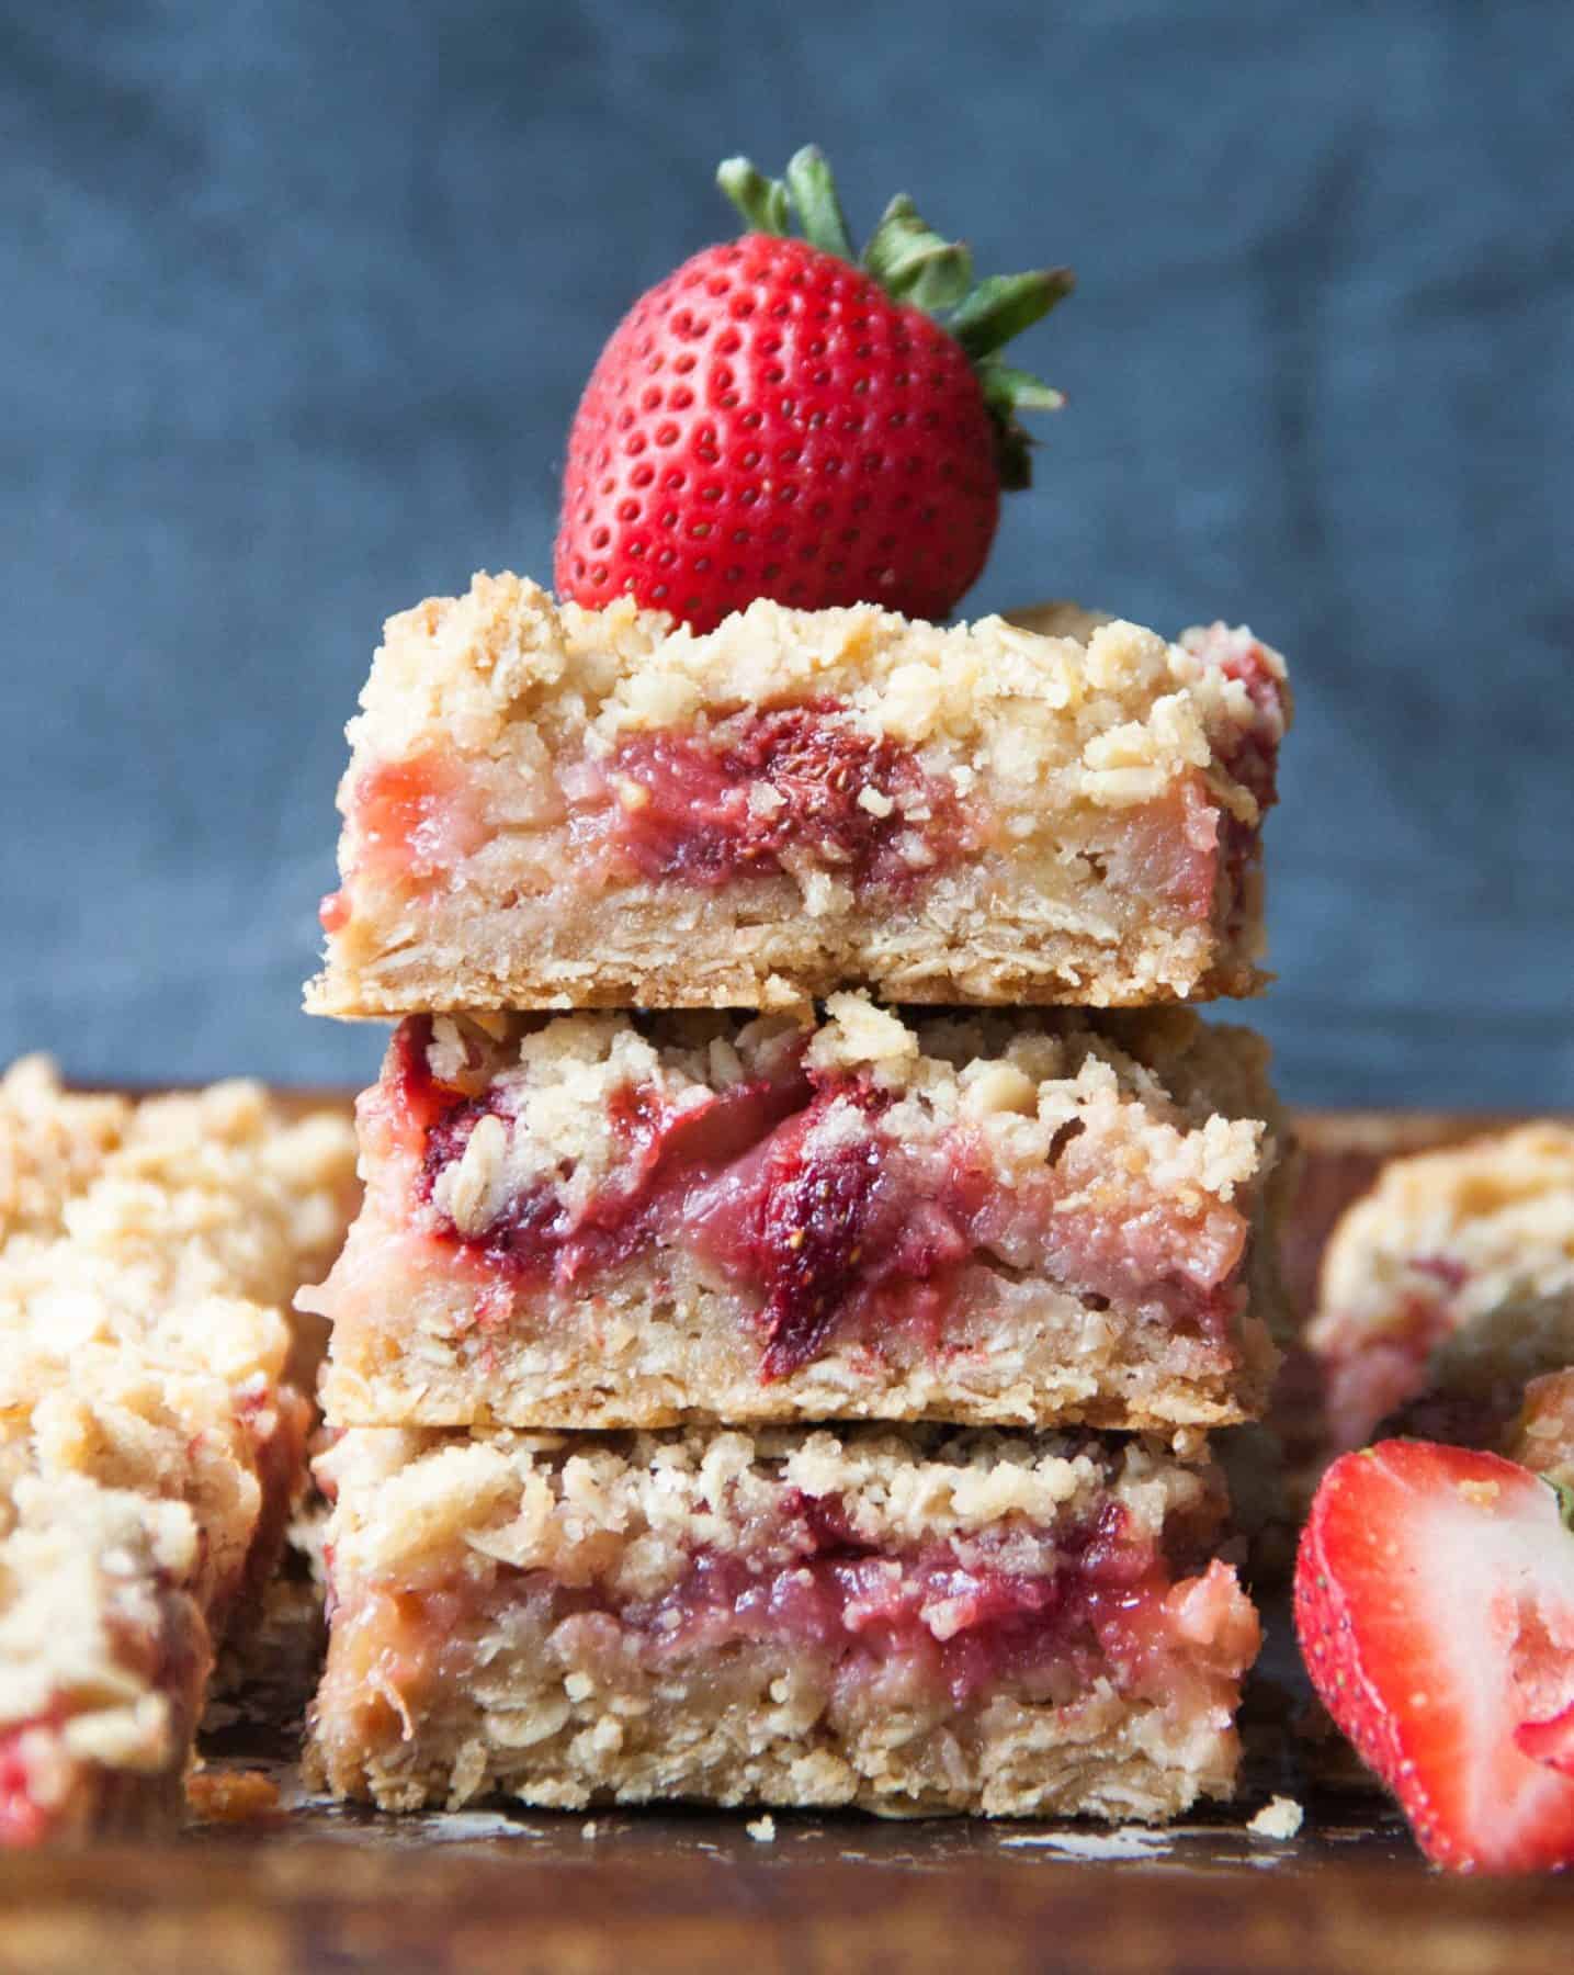
[[[288,1298],[352,1203],[348,1120],[255,1084],[0,1078],[0,1843],[178,1807],[306,1479]]]

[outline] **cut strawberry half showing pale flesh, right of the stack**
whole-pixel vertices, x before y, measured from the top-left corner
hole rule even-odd
[[[1311,1683],[1461,1872],[1574,1864],[1574,1505],[1499,1454],[1384,1440],[1323,1475],[1296,1560]]]

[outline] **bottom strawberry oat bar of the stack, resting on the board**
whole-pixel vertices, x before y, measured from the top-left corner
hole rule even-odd
[[[357,1428],[318,1471],[338,1795],[1157,1821],[1234,1785],[1258,1618],[1219,1471],[1159,1442]]]

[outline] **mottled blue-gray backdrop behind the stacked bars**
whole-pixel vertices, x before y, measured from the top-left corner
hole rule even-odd
[[[359,1078],[296,989],[381,618],[545,573],[600,338],[808,136],[1070,391],[978,608],[1246,618],[1309,1102],[1574,1104],[1566,0],[0,0],[0,1053]]]

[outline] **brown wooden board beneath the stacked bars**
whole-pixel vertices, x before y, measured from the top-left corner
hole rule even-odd
[[[1384,1155],[1485,1122],[1301,1118],[1298,1298]],[[393,1819],[314,1801],[290,1760],[310,1665],[298,1633],[280,1637],[269,1679],[209,1738],[211,1772],[267,1774],[280,1809],[158,1847],[0,1858],[0,1975],[1570,1967],[1574,1876],[1430,1872],[1382,1797],[1288,1732],[1299,1695],[1282,1608],[1268,1633],[1238,1805],[1157,1833],[778,1813],[768,1841],[745,1815]],[[1305,1807],[1290,1843],[1246,1831],[1272,1791]]]

